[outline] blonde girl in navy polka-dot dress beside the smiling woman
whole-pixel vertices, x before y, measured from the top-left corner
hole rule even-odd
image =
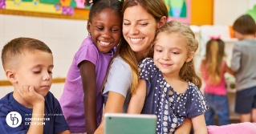
[[[207,133],[203,113],[208,107],[193,63],[197,48],[189,26],[167,22],[156,31],[153,59],[139,64],[140,81],[128,113],[155,114],[157,134],[174,133],[185,118],[191,118],[194,133]]]

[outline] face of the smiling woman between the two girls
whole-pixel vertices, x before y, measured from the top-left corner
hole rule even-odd
[[[143,55],[155,37],[158,23],[142,6],[124,11],[123,35],[136,55]]]

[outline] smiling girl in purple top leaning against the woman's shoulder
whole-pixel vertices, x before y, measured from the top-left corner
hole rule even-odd
[[[100,125],[103,114],[103,96],[100,87],[114,54],[113,47],[120,42],[123,2],[94,0],[87,30],[76,52],[59,103],[71,133],[92,134]]]

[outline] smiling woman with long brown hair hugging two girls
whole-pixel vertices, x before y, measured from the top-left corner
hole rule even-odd
[[[156,30],[168,17],[163,0],[126,0],[123,35],[104,82],[104,113],[126,113],[130,95],[139,81],[138,63],[149,53]],[[95,133],[104,133],[104,121]]]

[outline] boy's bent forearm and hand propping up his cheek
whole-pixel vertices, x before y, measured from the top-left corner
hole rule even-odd
[[[18,94],[22,99],[26,100],[27,103],[33,106],[32,119],[34,118],[44,118],[44,102],[45,99],[43,95],[35,92],[34,87],[32,86],[23,86],[18,89]],[[35,116],[37,115],[37,116]],[[35,124],[33,124],[35,123]],[[42,134],[43,133],[43,120],[31,120],[30,128],[26,132],[27,134]]]

